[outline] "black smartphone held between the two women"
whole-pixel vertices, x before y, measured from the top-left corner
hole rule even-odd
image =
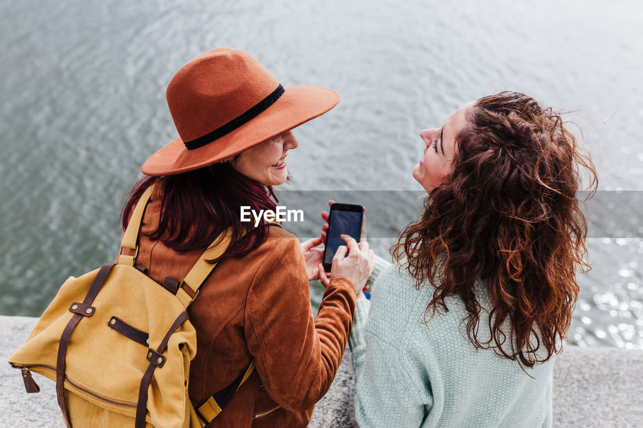
[[[326,231],[326,242],[323,250],[323,268],[330,272],[332,258],[335,256],[340,245],[346,245],[346,241],[340,235],[349,235],[359,242],[361,235],[361,223],[364,218],[364,207],[354,204],[332,204],[331,213],[328,217],[328,230]]]

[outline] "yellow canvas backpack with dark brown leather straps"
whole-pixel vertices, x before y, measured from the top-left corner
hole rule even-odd
[[[118,264],[70,277],[33,332],[9,359],[27,392],[40,391],[31,371],[56,382],[65,424],[75,427],[184,427],[209,424],[248,379],[254,366],[194,409],[188,397],[197,351],[186,309],[230,244],[228,231],[199,258],[182,282],[163,287],[135,267],[147,188],[123,234]]]

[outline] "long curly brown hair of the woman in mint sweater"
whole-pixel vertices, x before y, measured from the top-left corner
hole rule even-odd
[[[401,265],[418,289],[426,280],[435,288],[425,321],[458,296],[476,348],[532,367],[559,352],[579,292],[575,274],[590,270],[586,199],[577,192],[587,173],[593,195],[596,170],[561,114],[525,94],[480,98],[466,118],[451,173],[426,198],[419,220],[403,229],[393,256],[406,256]],[[487,341],[477,337],[476,278],[488,284],[493,305],[485,308]]]

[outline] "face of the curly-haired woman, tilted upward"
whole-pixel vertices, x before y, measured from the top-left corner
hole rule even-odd
[[[422,184],[426,192],[435,189],[444,176],[451,172],[456,151],[455,136],[467,126],[466,112],[472,105],[473,101],[462,105],[442,127],[420,132],[420,138],[424,141],[424,155],[420,163],[413,167],[413,178]]]

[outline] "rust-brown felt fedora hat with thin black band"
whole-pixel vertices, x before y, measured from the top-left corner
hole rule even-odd
[[[240,49],[219,48],[190,60],[167,87],[179,138],[147,159],[147,175],[179,174],[212,165],[293,129],[335,107],[325,87],[285,88]]]

